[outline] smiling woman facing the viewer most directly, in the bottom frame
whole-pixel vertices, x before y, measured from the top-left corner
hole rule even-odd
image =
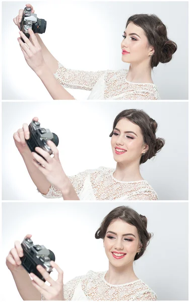
[[[109,212],[95,234],[96,239],[103,239],[108,271],[89,271],[63,286],[63,272],[51,261],[58,272],[56,281],[42,266],[37,266],[50,283],[48,286],[33,273],[31,280],[22,267],[19,257],[23,256],[23,250],[18,241],[6,263],[24,300],[156,300],[155,292],[136,276],[133,269],[134,261],[144,254],[151,237],[145,216],[130,207],[119,206]]]

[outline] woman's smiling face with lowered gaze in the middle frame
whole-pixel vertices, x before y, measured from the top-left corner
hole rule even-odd
[[[114,160],[123,164],[140,163],[142,154],[148,150],[141,128],[126,118],[120,119],[113,129],[111,147]]]

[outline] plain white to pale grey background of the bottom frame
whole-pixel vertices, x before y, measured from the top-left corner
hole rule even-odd
[[[33,235],[34,244],[54,252],[55,262],[64,270],[64,283],[89,270],[107,270],[103,242],[94,235],[104,216],[120,205],[145,215],[148,231],[154,234],[134,264],[137,276],[157,293],[158,300],[187,300],[188,203],[179,202],[3,203],[3,299],[21,300],[5,258],[15,240],[22,241],[26,234]]]

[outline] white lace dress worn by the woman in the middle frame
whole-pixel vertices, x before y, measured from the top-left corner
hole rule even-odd
[[[80,200],[157,200],[157,194],[146,180],[119,181],[113,177],[115,169],[100,167],[69,177]],[[62,198],[53,185],[46,198]]]

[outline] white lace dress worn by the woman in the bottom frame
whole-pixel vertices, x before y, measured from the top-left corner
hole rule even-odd
[[[157,300],[156,293],[141,279],[112,285],[105,281],[106,272],[89,271],[64,285],[66,300]],[[41,296],[44,300],[44,296]]]

